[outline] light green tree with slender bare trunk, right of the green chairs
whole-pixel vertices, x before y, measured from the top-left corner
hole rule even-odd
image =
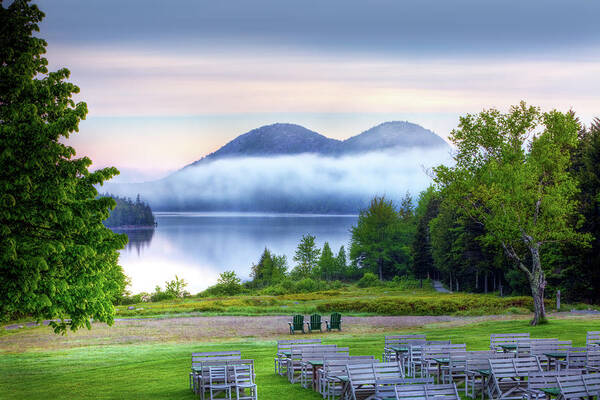
[[[533,325],[545,319],[542,252],[587,240],[573,224],[578,186],[569,172],[579,129],[571,113],[542,113],[523,102],[507,114],[490,109],[467,115],[450,135],[455,165],[434,169],[444,195],[527,277]]]

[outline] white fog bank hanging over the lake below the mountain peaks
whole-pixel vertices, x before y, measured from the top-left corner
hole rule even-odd
[[[357,212],[369,199],[400,200],[431,184],[427,170],[450,162],[448,149],[373,152],[340,158],[312,154],[201,163],[152,184],[108,184],[138,192],[160,210]]]

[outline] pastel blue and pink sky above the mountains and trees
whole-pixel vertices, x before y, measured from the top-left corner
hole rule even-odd
[[[51,70],[89,114],[68,143],[121,182],[163,177],[256,127],[345,139],[390,120],[600,116],[591,0],[37,0]]]

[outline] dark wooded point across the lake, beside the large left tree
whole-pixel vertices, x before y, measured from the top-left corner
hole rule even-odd
[[[135,201],[108,193],[102,194],[100,197],[112,197],[117,203],[109,217],[104,220],[104,225],[107,227],[154,226],[156,224],[150,205],[142,201],[139,194]]]

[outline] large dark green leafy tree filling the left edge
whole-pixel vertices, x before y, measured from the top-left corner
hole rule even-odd
[[[25,0],[0,4],[0,318],[59,318],[65,332],[112,323],[127,239],[102,225],[115,203],[94,188],[118,171],[88,171],[63,143],[87,107],[67,69],[46,68],[33,36],[43,17]]]

